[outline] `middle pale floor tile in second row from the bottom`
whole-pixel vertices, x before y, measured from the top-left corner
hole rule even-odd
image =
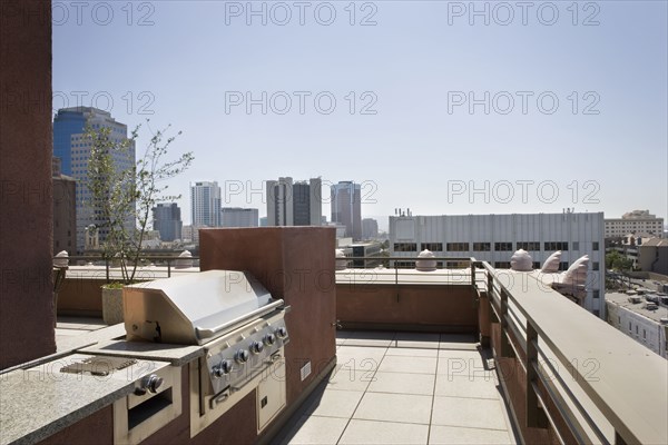
[[[431,396],[366,393],[353,418],[429,425]]]

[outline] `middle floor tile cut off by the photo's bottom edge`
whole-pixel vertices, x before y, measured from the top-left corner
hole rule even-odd
[[[428,425],[352,419],[338,444],[426,444]]]

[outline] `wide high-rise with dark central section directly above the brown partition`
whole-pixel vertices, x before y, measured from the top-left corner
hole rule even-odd
[[[322,180],[293,182],[291,177],[267,181],[268,226],[321,226]]]

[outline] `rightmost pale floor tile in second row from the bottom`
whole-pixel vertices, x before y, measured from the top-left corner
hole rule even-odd
[[[507,429],[501,400],[434,396],[432,425]]]

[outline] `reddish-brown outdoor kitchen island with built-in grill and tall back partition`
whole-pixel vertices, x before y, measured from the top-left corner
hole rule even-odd
[[[200,249],[199,276],[217,285],[126,289],[126,338],[40,364],[37,385],[26,369],[1,376],[13,428],[3,422],[2,444],[271,441],[335,365],[334,230],[205,229]],[[222,294],[202,294],[214,288]]]

